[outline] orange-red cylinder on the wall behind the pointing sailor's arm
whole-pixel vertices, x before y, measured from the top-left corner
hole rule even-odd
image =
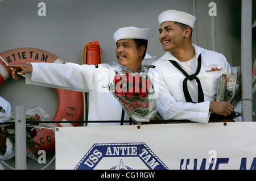
[[[101,48],[98,41],[90,41],[82,51],[82,64],[96,65],[101,64]]]

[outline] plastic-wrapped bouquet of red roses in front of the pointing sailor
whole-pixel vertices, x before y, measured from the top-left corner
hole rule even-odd
[[[146,122],[155,116],[154,88],[145,72],[119,71],[109,90],[134,121]]]

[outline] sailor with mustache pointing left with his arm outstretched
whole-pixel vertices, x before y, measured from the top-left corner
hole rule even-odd
[[[7,67],[13,68],[14,79],[26,74],[26,83],[30,85],[88,92],[88,120],[130,120],[108,89],[108,85],[113,82],[118,71],[129,69],[133,72],[147,72],[142,66],[142,60],[146,54],[150,28],[119,28],[113,37],[118,61],[115,65],[30,63]],[[120,123],[88,123],[88,126],[92,125],[120,125]]]

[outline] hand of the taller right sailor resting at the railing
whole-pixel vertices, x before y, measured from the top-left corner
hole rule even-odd
[[[209,111],[217,115],[228,116],[234,111],[234,106],[224,101],[212,101],[210,102]]]

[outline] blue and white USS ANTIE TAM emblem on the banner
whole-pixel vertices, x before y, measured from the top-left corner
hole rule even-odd
[[[74,169],[132,170],[138,166],[145,170],[168,170],[143,142],[94,144]]]

